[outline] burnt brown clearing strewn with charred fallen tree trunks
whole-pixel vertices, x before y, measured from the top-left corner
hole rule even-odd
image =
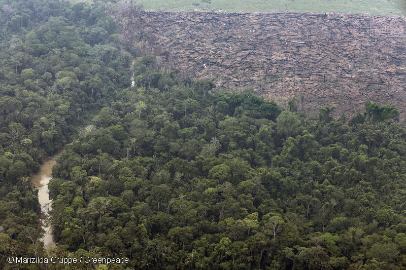
[[[131,21],[131,20],[130,20]],[[350,14],[142,12],[129,22],[146,53],[217,90],[255,89],[299,110],[396,105],[406,120],[406,23]],[[140,27],[142,26],[142,27]],[[141,31],[140,28],[143,30]],[[131,31],[131,30],[130,30]],[[141,46],[140,43],[137,46]]]

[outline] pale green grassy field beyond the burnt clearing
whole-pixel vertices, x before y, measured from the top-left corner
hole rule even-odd
[[[229,12],[319,12],[369,13],[404,16],[404,0],[138,0],[145,10],[163,11],[229,11]]]

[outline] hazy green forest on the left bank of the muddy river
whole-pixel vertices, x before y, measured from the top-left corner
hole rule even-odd
[[[103,5],[0,0],[2,269],[15,266],[7,255],[43,252],[29,172],[130,85],[131,58],[114,46],[116,35]]]

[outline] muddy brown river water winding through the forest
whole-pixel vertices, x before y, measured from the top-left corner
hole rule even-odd
[[[64,151],[65,149],[60,150],[51,158],[59,157]],[[49,210],[51,210],[52,200],[49,199],[48,183],[49,180],[52,179],[52,167],[55,165],[55,163],[56,161],[54,160],[51,160],[51,162],[45,161],[44,164],[40,166],[40,171],[38,174],[31,174],[32,184],[38,189],[38,201],[40,201],[41,210],[44,215],[48,215]],[[52,227],[45,226],[43,224],[43,228],[45,230],[45,234],[41,241],[44,242],[44,247],[54,247],[55,243],[54,236],[52,234]]]

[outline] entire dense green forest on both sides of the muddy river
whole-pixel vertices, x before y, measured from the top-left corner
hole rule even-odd
[[[47,268],[10,255],[129,259],[69,269],[406,267],[395,107],[311,117],[153,56],[131,66],[114,8],[0,0],[2,268]],[[58,245],[45,250],[28,175],[68,142],[49,184]]]

